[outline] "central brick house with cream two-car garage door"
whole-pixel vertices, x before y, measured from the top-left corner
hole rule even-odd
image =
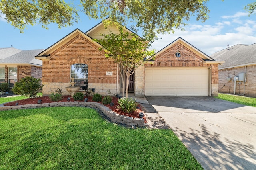
[[[108,27],[118,33],[115,26]],[[80,90],[93,88],[102,95],[120,94],[125,83],[118,72],[118,65],[100,51],[100,44],[92,41],[102,38],[108,29],[99,23],[86,33],[75,29],[48,49],[36,56],[43,61],[45,96],[62,89],[73,80]],[[131,32],[129,29],[126,31]],[[153,60],[155,59],[155,60]],[[129,79],[129,92],[144,95],[208,96],[218,94],[218,64],[182,38],[176,39],[150,57],[150,61],[136,69]]]

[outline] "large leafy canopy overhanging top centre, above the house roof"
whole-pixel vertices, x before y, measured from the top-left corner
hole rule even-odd
[[[182,29],[191,16],[208,19],[208,0],[81,0],[84,12],[94,19],[110,17],[112,21],[138,29],[147,40],[154,41],[157,33]]]

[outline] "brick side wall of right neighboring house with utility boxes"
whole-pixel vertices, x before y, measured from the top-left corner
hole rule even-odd
[[[246,74],[246,82],[236,81],[235,94],[256,97],[256,65],[219,70],[219,92],[234,94],[234,77]],[[227,78],[231,78],[229,81]]]

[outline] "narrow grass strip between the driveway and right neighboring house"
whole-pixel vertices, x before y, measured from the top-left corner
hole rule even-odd
[[[227,101],[234,102],[234,103],[244,104],[247,106],[256,107],[256,98],[249,98],[249,97],[244,97],[244,96],[236,96],[236,95],[222,94],[222,93],[219,93],[218,97],[216,97],[216,98],[222,99],[222,100],[227,100]]]

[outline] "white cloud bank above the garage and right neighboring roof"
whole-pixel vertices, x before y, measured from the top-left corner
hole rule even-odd
[[[214,25],[188,25],[184,29],[185,31],[174,30],[174,34],[160,34],[159,37],[162,39],[155,41],[152,49],[159,51],[178,37],[182,37],[207,55],[227,48],[227,44],[233,46],[256,43],[256,23],[251,20],[244,20],[242,26],[234,23],[231,25],[230,22],[218,22]]]

